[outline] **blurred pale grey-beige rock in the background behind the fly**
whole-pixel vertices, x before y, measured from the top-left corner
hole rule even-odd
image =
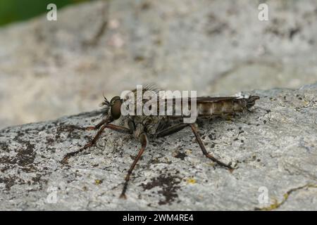
[[[116,0],[0,29],[0,127],[95,108],[135,84],[199,90],[317,81],[316,0]],[[5,107],[3,107],[5,105]]]

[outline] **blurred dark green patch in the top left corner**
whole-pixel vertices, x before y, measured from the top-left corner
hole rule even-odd
[[[61,8],[82,1],[89,0],[0,0],[0,26],[45,13],[46,6],[51,3]]]

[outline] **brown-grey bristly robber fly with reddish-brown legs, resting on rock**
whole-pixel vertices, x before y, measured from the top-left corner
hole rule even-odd
[[[155,90],[153,86],[145,86],[142,91],[149,91]],[[133,94],[137,93],[137,89],[132,91]],[[217,117],[223,115],[235,115],[237,113],[244,112],[251,108],[255,101],[259,99],[259,96],[249,96],[248,98],[245,97],[197,97],[196,98],[196,107],[197,107],[197,117]],[[158,99],[159,100],[159,99]],[[167,104],[168,100],[164,100]],[[175,103],[177,102],[176,99],[170,100],[173,102],[173,107],[175,107]],[[196,123],[184,123],[183,119],[185,116],[183,115],[122,115],[122,108],[124,99],[120,98],[119,96],[115,96],[109,102],[105,97],[103,103],[101,103],[102,109],[102,120],[97,125],[92,127],[84,127],[78,129],[85,129],[85,130],[97,130],[96,136],[94,139],[87,143],[85,146],[76,150],[71,153],[67,153],[63,160],[63,164],[67,164],[68,158],[77,153],[80,153],[82,150],[93,146],[97,139],[101,136],[102,131],[104,129],[112,129],[114,131],[118,131],[124,134],[131,134],[141,143],[141,148],[137,154],[137,157],[132,162],[130,169],[128,170],[128,174],[125,176],[125,183],[123,184],[123,190],[120,195],[120,198],[126,198],[125,192],[127,191],[128,182],[130,180],[130,175],[132,174],[135,165],[137,164],[139,158],[141,158],[142,153],[144,153],[144,149],[147,146],[147,143],[151,139],[160,138],[163,136],[167,136],[173,134],[185,127],[190,127],[194,136],[199,144],[202,153],[212,160],[216,162],[221,167],[229,169],[232,171],[232,167],[230,164],[225,164],[220,160],[216,159],[207,152],[204,143],[201,141],[201,137],[199,132],[197,131],[197,124]],[[144,105],[147,100],[142,100],[142,104]],[[191,105],[189,104],[189,108]],[[158,108],[159,110],[159,108]],[[175,110],[174,110],[175,111]],[[111,124],[111,122],[116,121],[117,124]]]

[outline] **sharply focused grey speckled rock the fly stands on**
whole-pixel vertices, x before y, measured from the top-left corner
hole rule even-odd
[[[127,200],[130,136],[106,130],[59,162],[95,134],[67,124],[96,124],[99,111],[2,129],[0,210],[317,210],[317,84],[250,93],[261,96],[253,113],[199,122],[206,148],[238,169],[215,167],[184,129],[149,143]]]

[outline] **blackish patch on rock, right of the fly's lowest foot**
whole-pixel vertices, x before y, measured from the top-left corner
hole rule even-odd
[[[154,187],[161,187],[161,190],[158,191],[159,194],[165,197],[165,200],[159,200],[159,205],[171,204],[178,198],[177,191],[180,189],[180,177],[173,176],[170,174],[160,174],[157,177],[151,179],[151,181],[147,184],[141,184],[144,191],[151,190]]]

